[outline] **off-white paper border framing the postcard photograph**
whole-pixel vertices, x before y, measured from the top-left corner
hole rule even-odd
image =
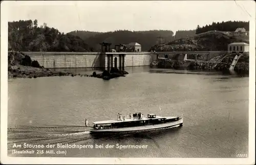
[[[197,1],[200,3],[200,1]],[[255,163],[255,2],[250,13],[249,62],[249,145],[248,158],[56,158],[7,156],[7,102],[8,102],[8,8],[21,5],[74,5],[73,1],[2,1],[1,2],[1,163],[4,164],[254,164]],[[100,3],[100,2],[99,2]],[[133,3],[131,1],[131,3]],[[158,2],[158,3],[161,3]],[[18,12],[18,11],[13,11]],[[216,9],[218,12],[218,9]]]

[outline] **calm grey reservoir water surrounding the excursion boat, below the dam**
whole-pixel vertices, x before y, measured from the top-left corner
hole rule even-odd
[[[248,154],[249,78],[149,67],[109,81],[91,77],[8,80],[9,156],[221,158]],[[73,69],[77,74],[92,70]],[[183,113],[183,127],[96,138],[88,119],[112,120],[117,113],[162,116]],[[14,144],[93,145],[57,149],[66,154],[12,154]],[[96,149],[97,145],[147,145],[146,149]],[[18,151],[24,148],[16,149]],[[27,150],[27,149],[26,149]],[[28,149],[29,151],[31,149]]]

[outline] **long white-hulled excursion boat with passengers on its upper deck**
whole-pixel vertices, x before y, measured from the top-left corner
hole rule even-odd
[[[143,119],[125,119],[93,122],[94,126],[90,128],[91,133],[118,133],[132,131],[147,131],[174,126],[182,126],[181,116],[162,117],[156,114],[147,114]]]

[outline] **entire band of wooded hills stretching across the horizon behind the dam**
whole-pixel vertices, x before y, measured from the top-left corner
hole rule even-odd
[[[174,36],[174,32],[170,30],[118,30],[105,33],[72,31],[64,34],[57,29],[49,28],[46,23],[43,26],[38,26],[37,20],[19,20],[8,22],[8,46],[10,50],[14,51],[97,52],[100,51],[99,43],[102,42],[112,43],[112,49],[115,44],[138,42],[142,45],[142,51],[225,50],[229,42],[239,41],[238,38],[214,32],[201,37],[195,36],[195,34],[208,31],[233,32],[237,28],[245,28],[249,31],[249,22],[212,22],[209,26],[198,26],[196,30],[179,30]],[[246,42],[248,39],[240,40]],[[207,45],[206,42],[211,44]]]

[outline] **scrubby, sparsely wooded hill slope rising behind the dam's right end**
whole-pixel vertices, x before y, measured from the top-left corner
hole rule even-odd
[[[150,51],[226,51],[232,42],[249,43],[249,37],[232,37],[224,32],[209,31],[195,36],[153,46]]]

